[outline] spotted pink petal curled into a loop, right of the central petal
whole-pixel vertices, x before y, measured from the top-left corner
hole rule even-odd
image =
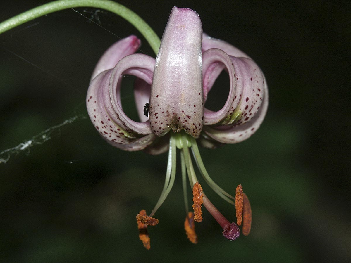
[[[220,71],[226,68],[230,90],[226,103],[217,112],[205,109],[205,125],[240,125],[250,121],[264,97],[264,77],[254,61],[228,56],[221,49],[208,49],[203,54],[204,96]]]

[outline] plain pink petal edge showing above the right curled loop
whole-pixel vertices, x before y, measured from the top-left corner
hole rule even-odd
[[[203,53],[210,48],[219,48],[219,49],[222,49],[228,55],[250,59],[250,57],[246,55],[244,52],[242,52],[239,48],[236,48],[223,40],[220,40],[217,38],[211,38],[211,36],[208,36],[205,33],[203,33],[202,36],[203,36],[203,39],[202,39]]]

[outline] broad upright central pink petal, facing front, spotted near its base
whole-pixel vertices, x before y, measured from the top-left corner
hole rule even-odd
[[[203,124],[202,26],[191,9],[173,7],[157,55],[150,96],[155,135],[170,129],[198,138]]]

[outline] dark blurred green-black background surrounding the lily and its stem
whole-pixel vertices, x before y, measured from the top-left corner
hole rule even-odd
[[[45,2],[4,1],[0,21]],[[261,128],[239,144],[200,149],[220,186],[234,193],[243,184],[253,210],[251,234],[229,242],[204,211],[196,225],[199,243],[188,242],[178,167],[157,212],[160,223],[149,228],[151,250],[144,249],[135,215],[156,203],[167,154],[113,148],[89,119],[79,119],[0,164],[0,261],[349,262],[350,2],[120,3],[160,37],[173,5],[192,8],[204,32],[262,68],[270,104]],[[95,11],[76,10],[88,18]],[[68,9],[0,35],[0,152],[87,116],[85,94],[100,55],[119,38],[140,36],[117,15],[98,16],[101,27]],[[141,52],[153,56],[141,39]],[[227,83],[221,78],[216,85]],[[123,90],[123,106],[133,115],[131,88]],[[234,220],[233,207],[203,187]]]

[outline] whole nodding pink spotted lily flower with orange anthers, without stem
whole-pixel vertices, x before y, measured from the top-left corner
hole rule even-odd
[[[145,150],[161,154],[168,150],[166,180],[152,213],[137,215],[139,238],[150,248],[146,225],[155,225],[152,216],[170,192],[176,175],[176,149],[180,149],[185,199],[185,229],[189,240],[197,243],[194,221],[200,222],[201,204],[235,240],[251,227],[251,208],[241,185],[233,197],[208,175],[197,142],[207,148],[238,143],[249,138],[260,126],[268,106],[265,77],[245,53],[202,31],[199,15],[188,8],[174,7],[165,28],[157,58],[134,54],[140,40],[128,36],[114,43],[102,55],[91,77],[87,110],[95,128],[111,145],[126,151]],[[204,107],[208,92],[225,70],[230,79],[228,98],[220,110]],[[134,97],[141,122],[131,120],[121,106],[120,87],[124,75],[137,77]],[[226,201],[236,206],[237,224],[228,221],[210,202],[198,182],[190,155],[204,181]],[[186,174],[193,188],[194,213],[188,210]]]

